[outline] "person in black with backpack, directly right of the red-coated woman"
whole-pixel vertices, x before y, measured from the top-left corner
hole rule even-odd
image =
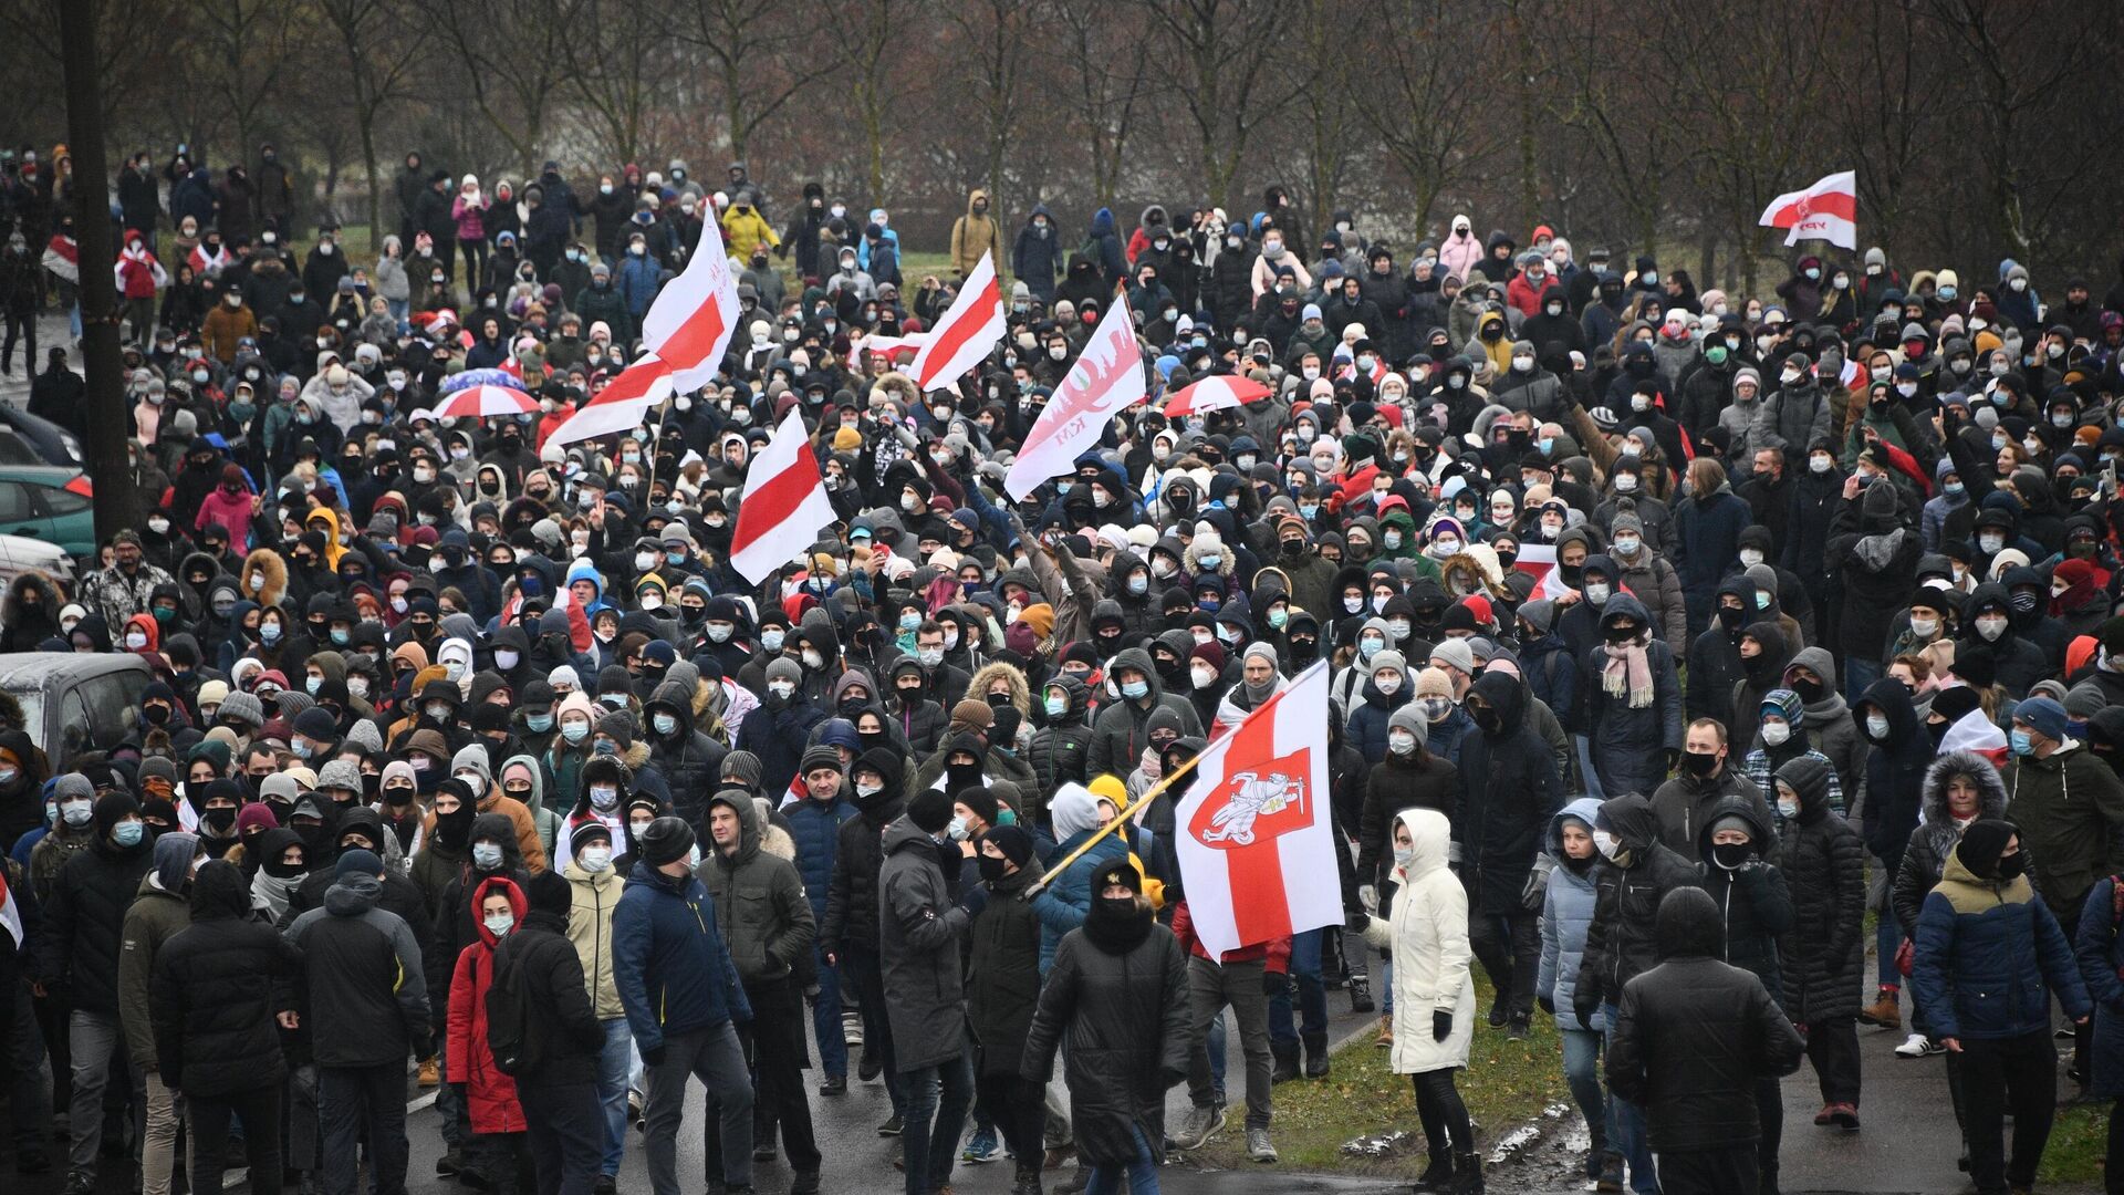
[[[605,1157],[597,1101],[597,1021],[582,957],[567,940],[573,904],[559,872],[531,876],[531,912],[495,948],[495,991],[523,1010],[520,1055],[510,1074],[525,1110],[531,1163],[542,1191],[588,1191]]]

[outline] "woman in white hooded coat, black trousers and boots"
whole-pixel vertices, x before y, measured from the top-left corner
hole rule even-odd
[[[1400,885],[1393,919],[1366,916],[1364,940],[1393,950],[1393,1072],[1417,1087],[1417,1114],[1432,1163],[1417,1191],[1483,1191],[1474,1125],[1453,1084],[1474,1038],[1474,976],[1468,970],[1468,893],[1446,870],[1453,827],[1438,810],[1410,808],[1393,821]]]

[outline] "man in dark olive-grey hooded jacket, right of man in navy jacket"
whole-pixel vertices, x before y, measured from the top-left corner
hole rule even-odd
[[[716,916],[737,978],[752,1006],[752,1059],[763,1121],[782,1125],[782,1148],[794,1172],[792,1195],[818,1191],[818,1144],[811,1140],[811,1104],[803,1091],[803,993],[790,978],[811,953],[818,925],[803,895],[796,865],[760,851],[760,814],[743,789],[722,789],[707,800],[707,836],[714,855],[697,876],[714,899]],[[833,1025],[839,1031],[839,1025]],[[771,1144],[771,1138],[760,1144]],[[716,1174],[718,1144],[707,1142],[707,1172]]]

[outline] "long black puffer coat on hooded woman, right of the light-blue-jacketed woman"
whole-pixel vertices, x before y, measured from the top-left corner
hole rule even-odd
[[[1865,980],[1865,842],[1829,808],[1829,768],[1801,755],[1778,768],[1799,797],[1784,823],[1778,868],[1793,887],[1784,940],[1784,1010],[1793,1021],[1858,1014]]]

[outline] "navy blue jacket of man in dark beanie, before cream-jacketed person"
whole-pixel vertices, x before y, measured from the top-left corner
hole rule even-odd
[[[716,906],[692,876],[635,863],[612,912],[612,978],[641,1053],[665,1031],[690,1033],[752,1021],[737,963],[716,929]]]

